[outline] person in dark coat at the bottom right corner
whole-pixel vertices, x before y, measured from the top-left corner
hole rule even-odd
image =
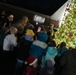
[[[76,75],[76,49],[66,51],[60,59],[61,75]]]

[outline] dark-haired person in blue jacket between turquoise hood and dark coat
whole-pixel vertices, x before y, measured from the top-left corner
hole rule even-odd
[[[57,56],[55,57],[55,75],[60,75],[61,72],[61,66],[60,66],[60,58],[62,57],[62,55],[68,50],[66,43],[65,42],[61,42],[61,44],[59,44],[59,47],[57,48]]]

